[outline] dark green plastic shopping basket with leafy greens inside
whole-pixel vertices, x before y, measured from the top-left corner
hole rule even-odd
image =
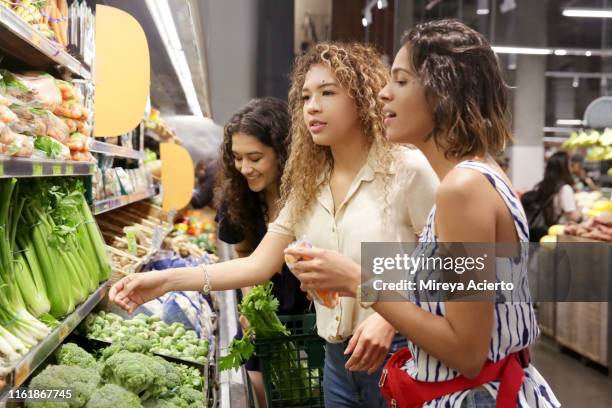
[[[324,407],[325,341],[314,314],[279,316],[289,336],[256,339],[269,407]]]

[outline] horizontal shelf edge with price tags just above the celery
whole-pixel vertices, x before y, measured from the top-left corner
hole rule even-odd
[[[0,178],[87,176],[95,172],[96,164],[89,162],[0,158]]]

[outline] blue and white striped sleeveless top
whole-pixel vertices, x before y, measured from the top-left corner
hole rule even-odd
[[[527,227],[527,218],[520,203],[512,189],[489,166],[479,161],[468,160],[461,162],[457,167],[472,169],[482,173],[487,180],[495,187],[500,194],[512,217],[516,227],[520,242],[529,242],[529,229]],[[431,209],[427,219],[427,225],[420,238],[420,251],[431,252],[435,249],[437,236],[434,228],[434,220],[436,215],[436,207]],[[522,245],[523,251],[521,258],[526,259],[525,249],[527,245]],[[516,262],[511,258],[496,258],[496,271],[508,270],[508,268],[526,267],[526,262]],[[515,271],[516,272],[516,271]],[[412,279],[423,279],[422,274],[429,274],[431,271],[422,270],[413,275]],[[528,292],[528,282],[526,274],[516,273],[516,276],[522,276],[525,279],[519,283],[522,285],[522,290]],[[422,299],[426,300],[426,299]],[[416,301],[417,306],[427,310],[430,313],[438,316],[445,315],[444,303],[437,301]],[[493,322],[493,330],[491,333],[491,343],[489,347],[488,359],[491,361],[499,361],[507,355],[524,349],[534,343],[539,335],[538,324],[536,322],[535,313],[531,303],[526,302],[497,302],[495,305],[495,319]],[[437,382],[450,380],[459,375],[459,373],[444,363],[421,350],[417,345],[409,342],[412,360],[406,362],[403,369],[414,379],[426,382]],[[499,381],[493,381],[483,385],[483,387],[491,393],[493,398],[497,397],[499,389]],[[465,396],[470,390],[459,391],[453,394],[445,395],[439,399],[429,401],[424,404],[424,407],[460,407]],[[518,396],[519,407],[560,407],[561,404],[555,398],[552,390],[546,383],[546,380],[538,373],[538,371],[530,365],[525,369],[525,377]]]

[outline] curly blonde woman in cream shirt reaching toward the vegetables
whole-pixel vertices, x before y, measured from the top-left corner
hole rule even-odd
[[[283,208],[253,253],[204,270],[135,274],[113,286],[112,301],[132,311],[168,290],[263,283],[280,269],[284,250],[296,238],[324,249],[326,262],[339,269],[346,259],[360,262],[362,242],[416,240],[438,181],[418,150],[391,148],[383,137],[376,95],[388,74],[378,53],[360,44],[319,44],[297,59],[292,79]],[[394,188],[399,184],[402,189]],[[402,214],[384,223],[386,209],[394,208]],[[401,342],[394,342],[395,330],[352,298],[315,306],[317,330],[327,342],[325,406],[384,406],[378,379],[389,352]]]

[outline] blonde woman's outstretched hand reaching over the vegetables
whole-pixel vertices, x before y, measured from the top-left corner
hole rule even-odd
[[[111,302],[121,306],[128,313],[164,293],[168,283],[168,270],[133,273],[115,283],[108,294]]]

